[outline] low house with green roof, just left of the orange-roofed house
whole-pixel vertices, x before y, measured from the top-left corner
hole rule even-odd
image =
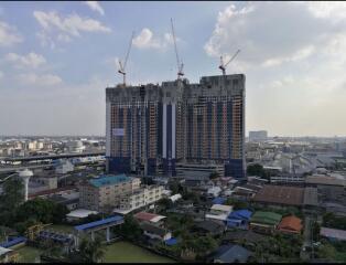
[[[260,233],[273,233],[281,221],[282,215],[273,212],[256,212],[249,227]]]

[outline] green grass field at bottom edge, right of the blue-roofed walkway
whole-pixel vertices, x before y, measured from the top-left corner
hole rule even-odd
[[[129,242],[117,242],[108,245],[105,263],[173,263],[174,261],[159,256]]]

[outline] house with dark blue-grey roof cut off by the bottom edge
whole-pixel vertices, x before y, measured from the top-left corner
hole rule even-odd
[[[252,255],[250,251],[240,245],[221,245],[213,256],[214,263],[246,263]]]

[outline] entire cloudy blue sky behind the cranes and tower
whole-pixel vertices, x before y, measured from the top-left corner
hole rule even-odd
[[[245,73],[246,130],[346,135],[345,2],[0,2],[0,135],[104,135],[105,87]]]

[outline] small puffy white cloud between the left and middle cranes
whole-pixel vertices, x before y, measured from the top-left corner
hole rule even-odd
[[[176,41],[179,42],[181,40],[176,38]],[[144,28],[139,35],[133,39],[132,43],[138,49],[164,50],[167,45],[173,44],[173,38],[171,33],[164,33],[162,38],[154,36],[150,29]]]

